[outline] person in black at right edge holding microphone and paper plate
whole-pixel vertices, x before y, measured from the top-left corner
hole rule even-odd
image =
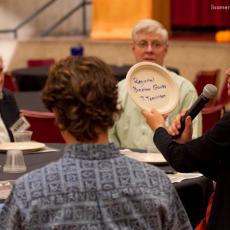
[[[230,68],[226,70],[230,95]],[[155,131],[154,143],[173,168],[180,172],[199,171],[216,182],[213,204],[207,230],[230,229],[230,112],[226,112],[216,125],[203,136],[191,140],[191,117],[185,120],[182,135],[174,140],[180,129],[179,114],[169,129],[164,117],[156,110],[143,111],[149,126]]]

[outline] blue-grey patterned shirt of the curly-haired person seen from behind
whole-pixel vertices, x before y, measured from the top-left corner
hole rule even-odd
[[[192,229],[168,177],[114,144],[67,145],[57,162],[20,177],[0,229]]]

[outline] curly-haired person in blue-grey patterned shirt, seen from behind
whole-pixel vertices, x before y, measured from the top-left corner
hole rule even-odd
[[[108,142],[120,113],[116,84],[96,57],[51,68],[43,101],[68,145],[60,160],[15,182],[0,229],[192,229],[168,177]]]

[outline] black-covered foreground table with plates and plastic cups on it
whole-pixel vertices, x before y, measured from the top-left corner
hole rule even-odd
[[[57,149],[53,152],[34,152],[24,154],[27,172],[42,167],[49,162],[58,160],[63,153],[64,144],[48,144],[48,146]],[[5,153],[0,154],[0,164],[5,162]],[[169,165],[158,166],[165,172],[174,171]],[[4,173],[0,169],[0,181],[15,180],[24,173]],[[212,181],[205,177],[186,179],[182,182],[174,183],[179,197],[188,213],[189,219],[195,227],[201,218],[205,215],[208,198],[213,191]]]

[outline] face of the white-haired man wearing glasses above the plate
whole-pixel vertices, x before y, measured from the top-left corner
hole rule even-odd
[[[132,44],[136,62],[150,61],[163,65],[168,45],[163,42],[160,34],[141,32]]]

